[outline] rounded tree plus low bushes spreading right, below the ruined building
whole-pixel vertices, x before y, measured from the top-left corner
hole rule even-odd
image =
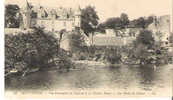
[[[161,51],[161,47],[156,44],[152,32],[142,30],[134,42],[133,57],[139,60],[141,64],[160,63],[159,59],[166,61],[166,54]],[[153,62],[154,61],[154,62]]]

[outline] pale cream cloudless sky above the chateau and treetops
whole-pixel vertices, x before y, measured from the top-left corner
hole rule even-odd
[[[33,5],[49,7],[76,7],[87,5],[95,6],[95,10],[103,22],[110,17],[118,17],[121,13],[127,13],[129,19],[149,15],[167,15],[171,13],[173,0],[27,0]],[[23,5],[25,0],[5,0],[5,4]]]

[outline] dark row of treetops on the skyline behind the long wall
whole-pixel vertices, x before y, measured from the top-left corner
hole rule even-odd
[[[147,18],[140,17],[132,21],[129,20],[128,15],[122,13],[120,17],[108,18],[105,22],[99,24],[98,29],[101,28],[111,28],[111,29],[122,29],[126,27],[136,27],[136,28],[147,28],[154,20],[153,16]]]

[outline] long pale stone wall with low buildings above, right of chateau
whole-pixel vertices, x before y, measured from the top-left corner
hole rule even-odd
[[[141,28],[126,28],[120,30],[107,29],[106,34],[93,36],[96,46],[123,46],[131,44],[138,36]],[[91,40],[91,37],[90,37]]]

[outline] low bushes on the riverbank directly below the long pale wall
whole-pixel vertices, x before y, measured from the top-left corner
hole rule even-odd
[[[97,47],[90,46],[83,52],[77,53],[79,60],[102,61],[110,64],[121,63],[119,47]]]

